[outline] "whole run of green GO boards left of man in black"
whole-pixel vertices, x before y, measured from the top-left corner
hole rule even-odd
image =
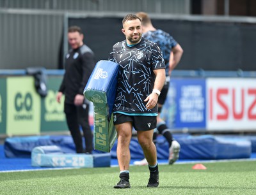
[[[0,78],[0,134],[8,136],[68,131],[64,108],[56,101],[62,76],[49,76],[41,98],[33,76]]]

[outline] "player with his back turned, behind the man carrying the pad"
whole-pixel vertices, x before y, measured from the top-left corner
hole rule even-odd
[[[180,152],[180,144],[173,140],[172,133],[170,129],[166,126],[164,120],[160,118],[161,109],[164,105],[164,101],[166,100],[166,96],[168,94],[169,83],[170,83],[170,75],[172,70],[177,66],[182,57],[183,50],[180,47],[179,43],[173,39],[170,34],[162,31],[161,29],[156,29],[148,17],[148,14],[145,12],[136,13],[138,17],[141,18],[142,22],[142,36],[145,39],[153,41],[157,43],[157,45],[161,48],[163,52],[164,62],[166,64],[166,82],[164,83],[164,87],[161,91],[161,95],[158,98],[158,116],[157,116],[157,131],[160,134],[163,134],[164,138],[168,141],[169,144],[169,164],[175,163],[177,159],[179,159]],[[153,140],[156,143],[157,139],[157,131],[154,131]],[[135,161],[136,165],[145,165],[147,163],[147,159],[143,159],[142,161]]]

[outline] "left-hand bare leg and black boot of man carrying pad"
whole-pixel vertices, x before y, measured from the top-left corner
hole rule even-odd
[[[131,161],[130,142],[132,137],[132,124],[125,122],[115,125],[117,131],[116,154],[120,168],[120,182],[114,188],[130,188],[129,183],[129,164]]]

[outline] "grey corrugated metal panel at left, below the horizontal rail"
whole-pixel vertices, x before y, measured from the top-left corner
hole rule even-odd
[[[0,12],[0,25],[0,69],[57,68],[63,15]]]

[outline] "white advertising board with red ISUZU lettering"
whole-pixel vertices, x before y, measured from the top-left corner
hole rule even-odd
[[[256,79],[208,78],[207,131],[256,129]]]

